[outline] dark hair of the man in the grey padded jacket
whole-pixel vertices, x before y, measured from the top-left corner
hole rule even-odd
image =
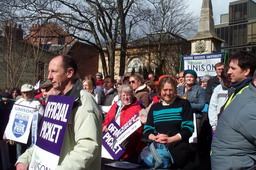
[[[229,57],[229,63],[231,60],[237,60],[238,66],[242,69],[250,69],[249,76],[252,76],[256,69],[256,56],[248,51],[239,51]]]

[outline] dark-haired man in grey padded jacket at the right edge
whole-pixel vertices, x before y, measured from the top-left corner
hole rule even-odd
[[[219,118],[213,138],[213,170],[256,168],[255,60],[256,57],[248,52],[231,56],[228,74],[233,91]],[[250,77],[252,72],[253,80]]]

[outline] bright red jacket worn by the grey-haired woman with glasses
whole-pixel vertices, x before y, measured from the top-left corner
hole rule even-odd
[[[115,119],[117,109],[118,105],[115,102],[107,113],[102,126],[108,126],[109,122],[112,119]],[[124,106],[120,114],[120,126],[122,127],[135,114],[139,114],[139,111],[141,109],[142,108],[137,101],[133,102],[130,105]],[[126,145],[125,153],[122,155],[121,158],[131,158],[134,156],[137,157],[140,154],[141,150],[145,147],[145,145],[141,142],[141,139],[143,138],[142,133],[143,127],[140,127],[127,139],[128,144]]]

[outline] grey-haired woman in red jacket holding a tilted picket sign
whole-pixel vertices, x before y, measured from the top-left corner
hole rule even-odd
[[[139,114],[142,109],[134,97],[133,89],[129,85],[120,86],[118,95],[120,100],[115,102],[107,113],[102,125],[103,131],[107,131],[107,126],[113,119],[122,127],[134,115]],[[137,162],[141,150],[145,147],[141,142],[141,138],[143,137],[142,132],[143,129],[140,127],[122,143],[125,147],[125,153],[121,159],[134,163]]]

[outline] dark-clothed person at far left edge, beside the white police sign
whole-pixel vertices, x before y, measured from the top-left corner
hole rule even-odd
[[[8,143],[4,140],[4,130],[9,121],[9,116],[14,104],[12,95],[7,92],[1,94],[0,102],[0,154],[2,165],[0,169],[7,170],[11,166],[10,157],[9,157],[9,146]]]

